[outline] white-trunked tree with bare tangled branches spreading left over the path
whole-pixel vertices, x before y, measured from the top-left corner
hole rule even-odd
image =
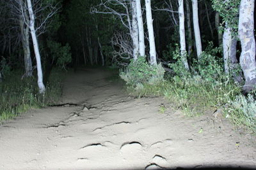
[[[122,32],[116,31],[112,38],[112,45],[117,46],[119,51],[115,52],[115,55],[119,55],[121,58],[129,59],[133,57],[135,59],[135,53],[138,53],[138,22],[136,14],[136,2],[135,0],[106,0],[100,1],[100,4],[91,8],[92,13],[104,13],[113,15],[118,18],[122,26],[129,32],[122,29]],[[131,18],[132,17],[132,18]],[[133,27],[134,26],[134,27]],[[131,40],[130,40],[131,39]],[[128,57],[124,57],[126,55]]]

